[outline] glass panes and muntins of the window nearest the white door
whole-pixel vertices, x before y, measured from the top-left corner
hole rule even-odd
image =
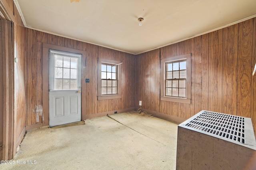
[[[118,79],[117,65],[101,64],[101,95],[117,95]]]

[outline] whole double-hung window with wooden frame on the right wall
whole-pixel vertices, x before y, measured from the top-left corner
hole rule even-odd
[[[191,54],[161,60],[161,100],[191,103]]]

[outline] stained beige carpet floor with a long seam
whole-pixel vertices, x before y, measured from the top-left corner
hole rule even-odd
[[[135,111],[29,130],[0,169],[175,170],[177,125]]]

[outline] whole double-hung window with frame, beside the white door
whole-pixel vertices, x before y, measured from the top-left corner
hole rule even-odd
[[[98,59],[98,100],[121,98],[120,71],[119,61]]]

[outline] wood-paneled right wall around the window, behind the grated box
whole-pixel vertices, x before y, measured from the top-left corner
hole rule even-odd
[[[186,53],[192,54],[191,104],[160,101],[160,59]],[[250,117],[255,132],[256,18],[142,53],[136,61],[136,106],[142,100],[143,109],[184,119],[201,110]]]

